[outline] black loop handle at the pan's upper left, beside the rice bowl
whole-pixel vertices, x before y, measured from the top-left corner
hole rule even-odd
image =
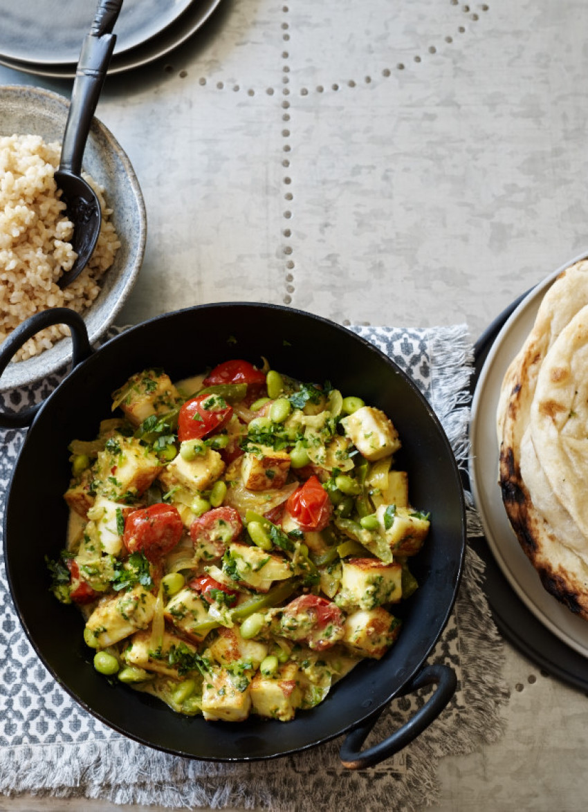
[[[26,322],[16,327],[6,341],[2,343],[0,349],[0,376],[10,364],[15,352],[23,346],[25,341],[32,339],[32,336],[38,333],[39,330],[44,330],[45,327],[51,327],[54,324],[67,324],[71,329],[73,343],[71,369],[74,369],[91,355],[92,348],[88,339],[88,330],[86,330],[84,319],[79,313],[67,307],[42,310],[41,313],[35,313]],[[42,403],[36,404],[23,409],[21,412],[0,412],[0,428],[22,429],[24,426],[31,425],[32,418],[35,417],[41,405]]]

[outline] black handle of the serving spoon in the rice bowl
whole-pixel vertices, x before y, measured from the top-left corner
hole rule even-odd
[[[100,0],[91,32],[85,37],[71,91],[59,169],[80,175],[93,114],[96,111],[116,35],[110,33],[123,0]]]

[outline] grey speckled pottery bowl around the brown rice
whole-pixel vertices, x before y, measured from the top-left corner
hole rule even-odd
[[[40,135],[45,141],[61,142],[69,110],[69,99],[41,88],[20,85],[0,87],[0,136]],[[113,209],[110,221],[121,246],[115,262],[101,281],[101,292],[83,313],[90,342],[106,333],[115,321],[136,282],[145,253],[147,223],[141,188],[127,155],[112,133],[93,119],[82,162],[105,188],[107,204]],[[71,341],[54,346],[28,361],[6,368],[0,390],[23,387],[53,374],[71,361]]]

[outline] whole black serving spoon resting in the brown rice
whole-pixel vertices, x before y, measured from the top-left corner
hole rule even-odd
[[[112,29],[122,5],[123,0],[98,2],[93,25],[84,39],[76,68],[61,160],[54,178],[61,189],[67,217],[73,223],[71,246],[78,256],[71,270],[64,271],[58,280],[59,287],[67,287],[84,270],[100,234],[100,203],[80,171],[93,114],[106,79],[110,57],[115,50],[116,35]]]

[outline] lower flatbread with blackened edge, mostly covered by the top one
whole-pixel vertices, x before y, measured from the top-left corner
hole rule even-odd
[[[521,440],[530,420],[537,378],[551,344],[588,304],[588,261],[564,270],[543,297],[530,335],[504,375],[496,413],[499,486],[504,508],[543,587],[588,620],[588,568],[556,538],[521,477]]]

